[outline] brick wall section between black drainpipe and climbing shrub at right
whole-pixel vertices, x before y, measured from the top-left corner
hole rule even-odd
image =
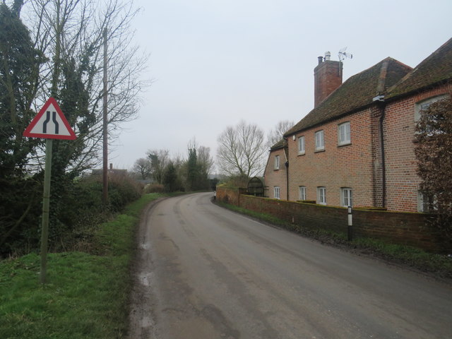
[[[452,86],[424,91],[403,100],[388,103],[383,121],[385,133],[386,206],[388,210],[417,211],[415,158],[415,104],[429,97],[451,93]]]

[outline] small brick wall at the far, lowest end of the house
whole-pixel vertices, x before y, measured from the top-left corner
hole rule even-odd
[[[280,156],[280,168],[275,169],[275,156]],[[266,170],[263,174],[264,184],[266,186],[265,196],[268,198],[274,198],[273,188],[275,186],[280,187],[280,199],[287,200],[287,172],[285,167],[285,154],[284,149],[273,150],[268,156],[268,162]]]

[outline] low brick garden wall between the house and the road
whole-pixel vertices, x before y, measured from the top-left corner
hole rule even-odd
[[[323,228],[347,232],[347,208],[321,206],[315,203],[281,201],[247,196],[246,189],[217,187],[217,200],[234,206],[274,215],[300,227]],[[437,230],[427,224],[427,214],[353,210],[353,234],[386,239],[394,244],[416,246],[429,251],[446,251]]]

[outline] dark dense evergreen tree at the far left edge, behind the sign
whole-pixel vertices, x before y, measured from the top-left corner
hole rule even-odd
[[[37,227],[33,221],[42,196],[40,176],[27,177],[25,172],[40,141],[22,133],[36,114],[30,107],[44,58],[19,18],[22,2],[15,1],[12,9],[0,4],[0,256],[15,242],[37,242],[36,230],[26,231],[24,225]]]

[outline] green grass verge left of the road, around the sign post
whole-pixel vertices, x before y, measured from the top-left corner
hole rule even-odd
[[[0,262],[0,338],[124,338],[133,232],[146,194],[97,228],[92,253],[49,254],[47,281],[39,283],[40,256]]]

